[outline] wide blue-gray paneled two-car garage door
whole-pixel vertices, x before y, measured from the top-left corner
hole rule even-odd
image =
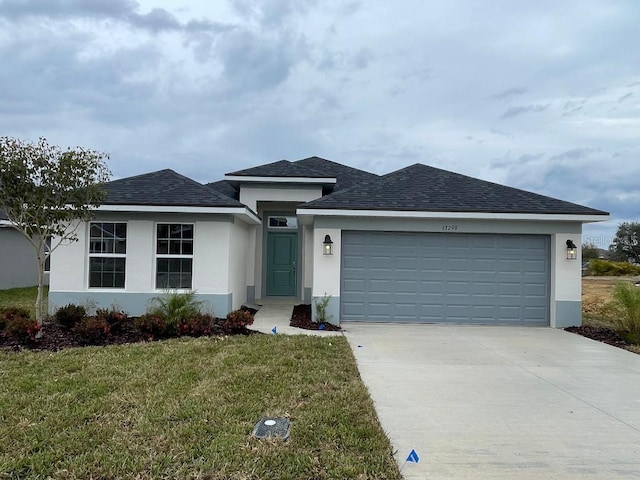
[[[341,319],[549,325],[546,235],[342,234]]]

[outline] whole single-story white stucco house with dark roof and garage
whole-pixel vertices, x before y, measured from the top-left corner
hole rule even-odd
[[[580,254],[567,241],[608,219],[421,164],[377,176],[318,157],[206,186],[161,170],[107,188],[80,241],[54,252],[50,308],[89,300],[138,315],[168,288],[195,290],[218,316],[327,295],[335,323],[579,325],[581,262],[568,257]]]

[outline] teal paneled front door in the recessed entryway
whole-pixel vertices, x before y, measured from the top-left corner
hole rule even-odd
[[[267,234],[267,296],[296,296],[296,232]]]

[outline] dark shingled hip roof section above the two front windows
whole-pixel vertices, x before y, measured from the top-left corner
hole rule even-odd
[[[173,170],[122,178],[106,183],[105,205],[242,207],[240,202]]]

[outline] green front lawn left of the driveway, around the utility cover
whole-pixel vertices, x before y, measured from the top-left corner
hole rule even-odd
[[[0,478],[401,478],[343,337],[0,352],[0,386]]]

